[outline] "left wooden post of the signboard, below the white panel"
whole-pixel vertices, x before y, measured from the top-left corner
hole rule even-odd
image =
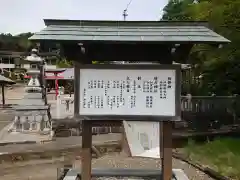
[[[82,180],[91,180],[92,165],[92,123],[82,121]]]

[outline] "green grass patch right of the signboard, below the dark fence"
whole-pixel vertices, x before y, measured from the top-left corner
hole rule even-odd
[[[189,140],[183,153],[224,176],[240,180],[240,139],[221,138],[205,144]]]

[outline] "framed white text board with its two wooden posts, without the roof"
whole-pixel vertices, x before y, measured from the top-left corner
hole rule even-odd
[[[74,74],[74,115],[75,118],[84,119],[82,121],[82,179],[91,179],[92,126],[96,124],[118,124],[120,120],[124,119],[131,121],[137,120],[159,122],[160,155],[162,158],[163,176],[162,179],[170,180],[172,178],[172,122],[179,120],[181,114],[180,65],[81,65],[79,63],[75,63]],[[127,76],[128,79],[126,79]],[[129,80],[130,77],[135,78],[136,82],[136,78],[140,76],[143,80],[141,80],[140,78],[138,79],[138,81],[141,82],[140,84],[142,85],[142,87],[135,86],[135,90],[133,88],[134,92],[126,90],[129,89],[126,84],[125,89],[123,88],[123,83],[127,83],[127,80]],[[91,78],[94,78],[95,80]],[[157,78],[159,78],[160,80],[157,80]],[[106,83],[108,81],[112,81],[112,84],[110,83],[109,85],[109,83]],[[132,83],[134,84],[134,82]],[[153,88],[149,88],[149,85],[146,85],[147,87],[144,89],[144,83],[149,83],[152,85],[156,83],[158,84],[156,86],[158,90],[155,91],[156,87],[154,89],[154,86]],[[107,90],[105,90],[105,87],[107,87]],[[161,88],[163,89],[163,91]],[[108,92],[108,90],[110,92]],[[119,92],[120,95],[117,97]],[[144,106],[141,103],[141,101],[143,101],[143,93],[148,94],[148,97],[152,96],[150,100],[149,98],[145,99],[146,103]],[[101,94],[102,96],[106,97],[102,97]],[[135,94],[135,100],[134,102],[131,101],[131,103],[127,104],[127,106],[126,103],[124,104],[122,102],[122,99],[125,98],[124,100],[126,101],[126,96],[129,97],[131,96],[131,94]],[[94,100],[92,96],[95,96]],[[111,98],[107,98],[110,96]],[[158,101],[154,101],[158,97]],[[130,97],[130,100],[134,98]],[[95,102],[95,104],[93,104],[93,101]],[[109,101],[111,102],[109,103]],[[116,102],[118,102],[118,104]],[[153,105],[154,103],[156,104],[155,106]],[[104,107],[103,104],[107,104],[107,106]],[[159,107],[162,108],[162,110]],[[128,108],[131,108],[131,110],[128,110]],[[135,111],[134,108],[136,109]],[[141,111],[142,113],[139,111]]]

